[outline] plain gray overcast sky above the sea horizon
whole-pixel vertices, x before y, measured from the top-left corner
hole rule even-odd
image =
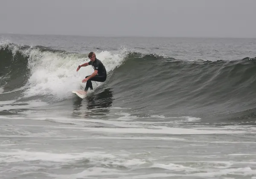
[[[0,0],[0,33],[256,38],[256,0]]]

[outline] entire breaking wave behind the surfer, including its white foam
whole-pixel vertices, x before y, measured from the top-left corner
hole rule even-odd
[[[184,61],[126,49],[115,54],[97,52],[96,56],[105,64],[108,80],[93,86],[107,89],[108,94],[114,91],[115,98],[111,96],[111,100],[120,106],[139,107],[144,111],[157,109],[157,113],[163,115],[178,115],[180,111],[184,115],[236,114],[238,118],[255,115],[256,58]],[[2,42],[0,59],[2,101],[14,98],[41,98],[48,103],[69,100],[71,91],[83,89],[82,79],[93,72],[91,67],[76,72],[78,64],[88,61],[87,54],[46,46]],[[127,98],[134,101],[122,102]]]

